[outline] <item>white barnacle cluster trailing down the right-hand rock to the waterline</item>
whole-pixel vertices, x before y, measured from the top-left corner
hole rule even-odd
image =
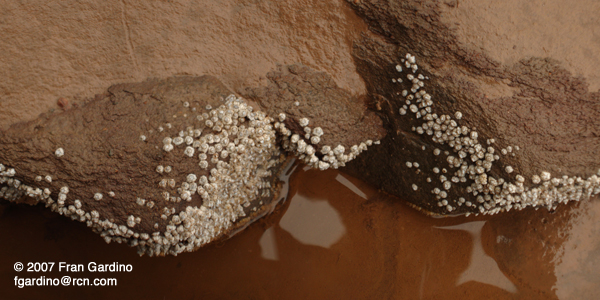
[[[482,214],[496,214],[512,208],[523,209],[529,206],[554,209],[560,203],[588,199],[600,193],[600,170],[598,175],[587,179],[569,176],[552,178],[549,172],[540,170],[540,175],[532,176],[531,187],[525,186],[525,177],[518,174],[512,166],[504,168],[510,177],[492,177],[489,175],[490,171],[492,166],[501,160],[500,155],[515,156],[515,151],[520,150],[519,146],[507,146],[497,151],[494,147],[495,139],[482,142],[477,131],[460,124],[463,117],[460,111],[455,112],[454,116],[436,114],[431,95],[423,89],[428,77],[417,74],[415,57],[406,54],[400,63],[395,69],[403,76],[393,78],[392,82],[407,83],[409,87],[397,93],[401,96],[399,115],[410,117],[407,114],[412,114],[412,121],[417,125],[412,127],[412,131],[425,137],[429,136],[434,143],[446,145],[446,148],[450,149],[432,150],[436,156],[445,156],[449,167],[449,170],[440,170],[439,167],[431,170],[433,182],[439,182],[438,187],[430,190],[438,206],[452,212],[465,205]],[[426,151],[425,148],[423,151]],[[418,162],[407,162],[406,166],[419,167]],[[427,182],[432,182],[431,177],[427,178]],[[450,199],[449,191],[455,185],[466,186],[466,192],[472,194],[472,199],[475,200],[466,200],[468,195]],[[417,191],[416,184],[412,184],[412,187]]]

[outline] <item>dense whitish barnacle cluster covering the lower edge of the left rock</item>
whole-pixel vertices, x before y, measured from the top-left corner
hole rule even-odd
[[[185,102],[183,106],[189,108],[190,105]],[[254,111],[234,95],[220,107],[207,110],[196,116],[198,126],[177,129],[165,124],[166,130],[162,126],[158,129],[158,134],[164,136],[161,138],[163,151],[184,156],[190,164],[197,165],[198,170],[178,180],[174,167],[152,167],[160,173],[162,179],[157,185],[164,191],[153,199],[137,198],[135,203],[153,208],[160,202],[161,219],[167,221],[164,229],[159,229],[159,224],[155,223],[153,232],[136,230],[142,219],[135,214],[128,215],[120,224],[96,210],[86,211],[82,201],[102,201],[102,191],[89,195],[89,199],[75,199],[71,200],[72,204],[67,204],[67,186],[53,192],[22,184],[14,178],[16,171],[2,164],[0,184],[6,186],[0,190],[0,197],[12,201],[27,195],[42,201],[53,211],[86,222],[106,242],[128,242],[137,246],[140,254],[177,255],[193,251],[226,233],[236,220],[246,215],[244,208],[252,202],[270,196],[271,186],[267,179],[274,175],[273,167],[284,159],[275,145],[272,120],[263,112]],[[146,142],[146,138],[141,138],[140,142]],[[50,175],[46,178],[51,181]],[[108,194],[118,197],[112,191]],[[169,207],[169,203],[189,202],[193,195],[202,198],[201,205],[188,205],[181,211]]]

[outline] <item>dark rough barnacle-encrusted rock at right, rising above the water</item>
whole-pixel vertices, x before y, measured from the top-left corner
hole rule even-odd
[[[436,214],[553,209],[600,193],[600,93],[566,57],[495,60],[495,44],[474,47],[464,32],[485,26],[456,28],[483,17],[454,16],[455,1],[349,3],[372,30],[354,57],[388,134],[346,171]]]

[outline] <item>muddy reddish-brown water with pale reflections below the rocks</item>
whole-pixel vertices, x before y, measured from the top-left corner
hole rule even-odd
[[[298,166],[288,199],[235,237],[139,257],[42,207],[0,202],[1,299],[598,299],[600,201],[554,213],[431,218],[337,171]],[[131,264],[131,272],[16,272],[15,262]],[[116,278],[15,286],[15,276]]]

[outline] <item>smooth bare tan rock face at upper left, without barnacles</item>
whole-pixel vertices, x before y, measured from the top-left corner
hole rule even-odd
[[[365,92],[350,55],[366,29],[343,1],[3,1],[0,128],[122,82],[218,76],[233,91],[277,64]]]

